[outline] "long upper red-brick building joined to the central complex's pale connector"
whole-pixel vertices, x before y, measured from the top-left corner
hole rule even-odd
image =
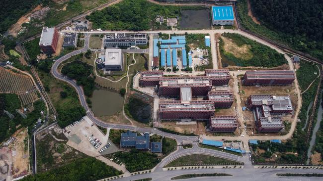
[[[212,88],[212,82],[207,77],[162,77],[159,82],[159,95],[176,96],[181,87],[190,87],[192,95],[206,95]]]

